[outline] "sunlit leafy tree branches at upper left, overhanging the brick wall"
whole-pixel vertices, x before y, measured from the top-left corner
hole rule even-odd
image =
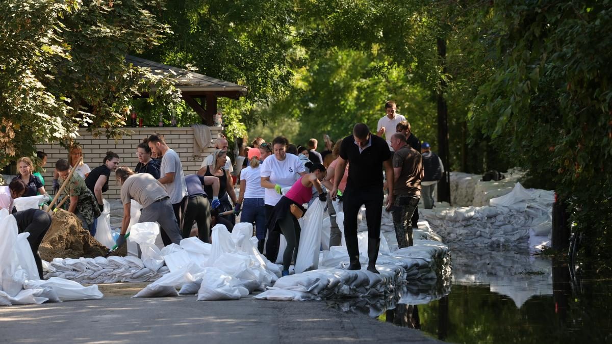
[[[165,107],[178,102],[170,77],[125,64],[125,54],[168,33],[150,12],[161,6],[0,1],[0,163],[34,155],[40,141],[72,141],[81,126],[121,135],[135,94],[149,92]]]

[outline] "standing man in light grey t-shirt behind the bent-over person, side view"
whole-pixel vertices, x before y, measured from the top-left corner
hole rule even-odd
[[[158,134],[149,136],[147,141],[151,151],[162,157],[162,166],[160,166],[160,178],[158,181],[166,188],[170,203],[174,210],[176,222],[181,223],[181,214],[184,209],[185,201],[187,200],[187,184],[185,184],[185,175],[183,174],[183,165],[181,159],[175,151],[170,149],[163,138]],[[167,237],[162,235],[164,244],[169,241]]]

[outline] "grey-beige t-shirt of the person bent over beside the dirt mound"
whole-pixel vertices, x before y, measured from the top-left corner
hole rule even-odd
[[[164,197],[168,197],[166,189],[149,173],[132,174],[121,186],[121,203],[123,204],[129,204],[133,198],[143,208],[147,208]]]

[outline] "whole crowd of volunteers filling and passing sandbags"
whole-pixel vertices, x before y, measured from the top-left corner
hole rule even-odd
[[[307,211],[304,204],[316,199],[326,203],[330,215],[330,246],[341,242],[333,201],[340,202],[339,209],[345,215],[348,268],[360,269],[357,215],[365,206],[367,269],[378,272],[375,264],[383,208],[392,212],[399,247],[412,245],[417,204],[422,197],[425,208],[433,207],[433,189],[444,171],[430,144],[421,143],[405,117],[396,112],[395,103],[387,102],[385,110],[375,133],[366,124],[358,123],[351,135],[336,142],[325,135],[323,152],[316,150],[315,138],[308,140],[306,147],[290,144],[284,136],[271,142],[255,138],[237,156],[235,173],[228,156],[228,141],[223,137],[215,140],[215,151],[203,159],[200,170],[189,175],[184,173],[179,154],[166,144],[162,135],[151,135],[138,144],[138,164],[133,170],[119,166],[119,155],[111,151],[100,166],[91,170],[83,163],[81,146],[74,145],[69,149],[68,159],[59,159],[54,165],[53,189],[67,195],[65,209],[75,214],[93,236],[97,217],[104,211],[103,194],[114,172],[121,185],[124,213],[118,246],[125,243],[132,200],[142,206],[140,222],[160,224],[165,245],[179,244],[190,236],[210,242],[212,226],[222,223],[231,231],[242,213],[241,222],[253,223],[259,252],[271,261],[277,261],[282,254],[283,275],[289,273],[289,264],[297,256],[301,231],[298,219]],[[50,200],[40,174],[46,160],[47,155],[39,152],[37,169],[27,157],[18,160],[20,175],[8,186],[0,187],[0,208],[12,211],[13,200],[20,196],[39,194]],[[239,183],[238,193],[233,177]],[[387,202],[383,206],[385,192]],[[44,227],[48,228],[48,221],[34,213],[21,217],[42,223],[35,230],[30,229],[36,233],[31,242],[34,250],[44,236]],[[192,231],[194,223],[196,231]],[[287,242],[282,253],[278,252],[280,234]]]

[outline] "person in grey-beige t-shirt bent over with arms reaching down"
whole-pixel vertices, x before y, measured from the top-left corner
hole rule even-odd
[[[168,216],[173,209],[168,193],[163,189],[162,184],[149,173],[134,174],[127,166],[119,167],[116,176],[121,184],[121,203],[123,204],[123,222],[117,239],[117,247],[125,242],[125,232],[131,220],[132,200],[143,206],[138,222],[159,223],[162,228],[162,238],[165,236],[168,239],[168,243],[164,242],[164,244],[179,244],[182,239],[181,232],[176,219]]]

